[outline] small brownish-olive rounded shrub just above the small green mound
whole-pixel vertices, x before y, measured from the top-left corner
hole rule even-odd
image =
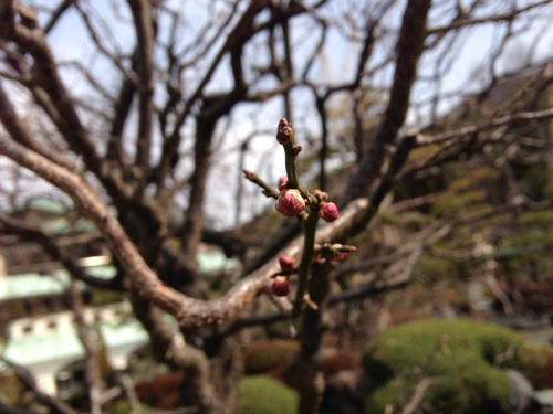
[[[298,342],[273,339],[254,344],[246,355],[246,372],[259,374],[283,365],[298,351]]]

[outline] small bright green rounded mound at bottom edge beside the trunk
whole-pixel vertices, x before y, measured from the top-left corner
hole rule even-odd
[[[267,375],[244,376],[240,382],[237,414],[295,414],[298,394]]]

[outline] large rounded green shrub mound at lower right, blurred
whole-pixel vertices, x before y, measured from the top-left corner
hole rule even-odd
[[[376,383],[366,413],[405,406],[425,379],[421,412],[504,413],[511,390],[502,369],[517,365],[522,344],[510,329],[468,320],[400,325],[365,350],[363,365]]]

